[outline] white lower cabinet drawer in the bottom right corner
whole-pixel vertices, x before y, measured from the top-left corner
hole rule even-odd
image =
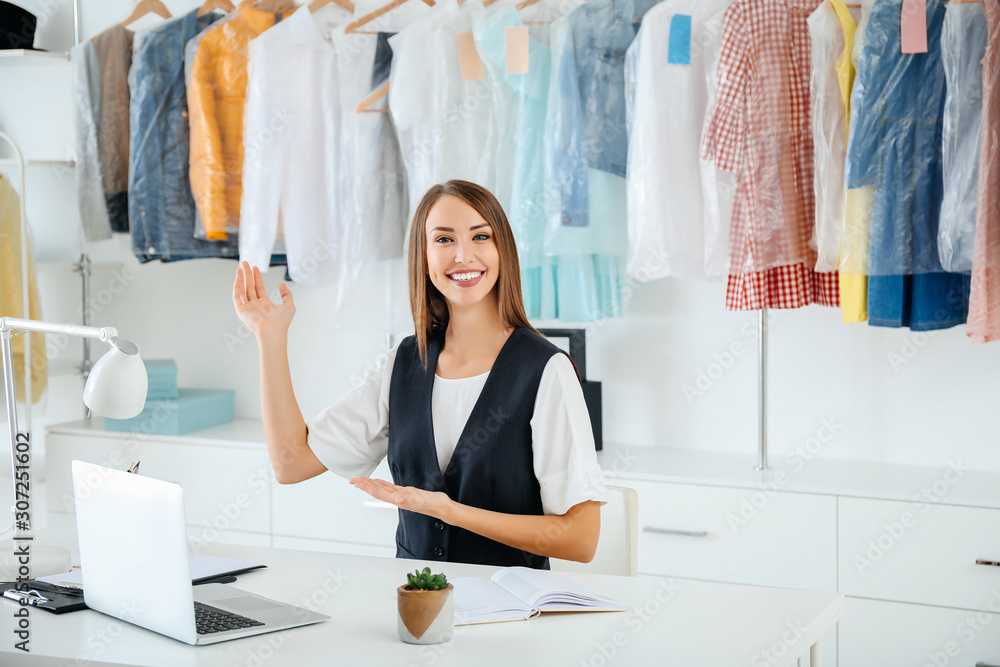
[[[1000,615],[847,598],[841,665],[1000,667]]]

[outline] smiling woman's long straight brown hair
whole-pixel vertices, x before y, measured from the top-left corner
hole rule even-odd
[[[410,226],[410,310],[420,349],[420,361],[427,367],[427,342],[448,328],[448,304],[440,290],[427,275],[427,215],[441,197],[458,197],[476,210],[493,230],[493,240],[500,255],[500,276],[493,288],[497,293],[497,310],[505,327],[527,327],[521,296],[521,266],[517,261],[517,246],[507,215],[500,202],[486,188],[469,181],[448,181],[435,185],[424,195],[413,214]]]

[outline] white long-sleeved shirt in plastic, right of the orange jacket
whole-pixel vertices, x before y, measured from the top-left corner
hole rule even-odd
[[[334,281],[343,236],[337,53],[319,23],[328,12],[350,20],[336,5],[303,7],[249,50],[240,259],[267,266],[280,220],[288,274],[304,285]]]

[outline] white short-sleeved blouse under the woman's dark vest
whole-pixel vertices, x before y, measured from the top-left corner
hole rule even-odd
[[[386,352],[360,386],[307,423],[310,449],[336,475],[368,476],[386,456],[389,385],[397,349]],[[442,471],[488,377],[434,378],[431,411]],[[565,354],[553,355],[542,372],[531,440],[545,514],[565,514],[586,500],[607,501],[583,390]]]

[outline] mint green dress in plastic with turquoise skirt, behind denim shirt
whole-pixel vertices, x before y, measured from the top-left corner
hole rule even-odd
[[[558,95],[550,86],[557,80],[550,45],[561,23],[528,26],[525,74],[506,74],[506,29],[524,25],[514,6],[486,15],[476,31],[476,45],[491,76],[505,84],[494,89],[500,98],[495,108],[498,134],[511,143],[506,149],[501,143],[497,152],[496,185],[498,196],[510,196],[507,215],[517,242],[525,311],[532,319],[587,322],[621,316],[625,180],[588,170],[591,224],[569,227],[559,222],[561,212],[553,210],[558,198],[551,196],[558,185],[545,168],[546,150],[551,150],[545,136],[550,96]],[[550,222],[553,215],[555,223]]]

